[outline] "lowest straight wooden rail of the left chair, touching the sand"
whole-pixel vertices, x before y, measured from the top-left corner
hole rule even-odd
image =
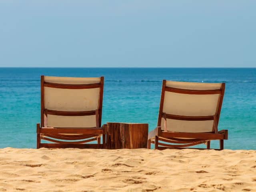
[[[101,149],[102,144],[64,144],[64,143],[41,143],[44,148],[80,148],[80,149]]]

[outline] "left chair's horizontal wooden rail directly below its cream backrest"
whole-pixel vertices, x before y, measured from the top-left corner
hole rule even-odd
[[[102,128],[41,128],[40,133],[46,134],[103,134]]]

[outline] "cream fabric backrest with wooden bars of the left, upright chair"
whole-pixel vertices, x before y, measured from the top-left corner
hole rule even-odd
[[[101,126],[104,77],[41,76],[41,126]]]

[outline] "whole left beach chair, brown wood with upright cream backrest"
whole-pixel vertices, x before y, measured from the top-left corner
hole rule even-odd
[[[41,76],[37,148],[105,148],[106,135],[101,127],[103,85],[104,77]],[[92,141],[97,144],[87,144]]]

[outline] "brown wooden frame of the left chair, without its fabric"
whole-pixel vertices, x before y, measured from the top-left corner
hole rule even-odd
[[[62,89],[90,89],[100,88],[98,109],[93,111],[56,111],[48,110],[44,105],[44,87],[62,88]],[[41,76],[41,126],[36,125],[37,145],[36,148],[106,148],[105,125],[101,127],[102,118],[102,100],[103,100],[104,77],[100,77],[99,83],[94,84],[58,84],[45,82],[44,76]],[[96,116],[96,127],[92,128],[61,128],[47,127],[47,115],[59,116]],[[77,135],[78,134],[78,135]],[[100,137],[102,136],[102,144]],[[58,140],[56,140],[58,139]],[[47,140],[54,143],[41,143],[41,140]],[[68,141],[60,141],[68,140]],[[80,141],[72,141],[80,140]],[[97,144],[86,144],[97,140]]]

